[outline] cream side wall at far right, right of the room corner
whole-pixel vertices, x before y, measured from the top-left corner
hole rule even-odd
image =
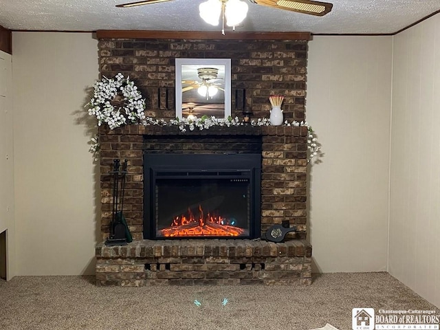
[[[389,272],[440,306],[440,16],[395,36]]]

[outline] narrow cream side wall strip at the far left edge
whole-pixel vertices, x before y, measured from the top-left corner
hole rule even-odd
[[[0,232],[6,230],[6,279],[15,275],[12,56],[0,51]]]

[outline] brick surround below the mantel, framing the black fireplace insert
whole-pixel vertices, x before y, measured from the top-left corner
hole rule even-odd
[[[307,181],[307,128],[294,126],[239,126],[230,128],[212,128],[203,131],[181,133],[177,127],[161,126],[124,126],[122,129],[110,131],[102,127],[101,133],[101,193],[102,193],[102,239],[109,236],[111,221],[112,181],[111,166],[114,158],[128,159],[128,175],[124,198],[124,216],[129,224],[135,240],[143,239],[143,151],[166,151],[164,144],[159,144],[157,136],[165,140],[173,140],[176,148],[183,152],[184,146],[200,144],[197,150],[186,150],[190,153],[212,153],[214,146],[222,146],[219,137],[228,136],[229,151],[243,147],[243,139],[252,143],[252,151],[256,151],[252,135],[261,136],[259,149],[263,156],[261,177],[261,230],[265,231],[274,223],[289,220],[296,225],[298,232],[292,234],[298,239],[306,236],[306,181]],[[183,140],[181,136],[186,138]],[[162,142],[161,142],[162,143]],[[162,149],[162,150],[161,150]],[[226,150],[226,149],[225,149]]]

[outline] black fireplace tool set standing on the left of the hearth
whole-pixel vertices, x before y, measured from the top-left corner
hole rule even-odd
[[[120,159],[113,159],[113,203],[111,208],[111,223],[110,223],[110,236],[105,241],[105,245],[126,245],[133,241],[129,226],[126,224],[126,220],[122,210],[124,209],[124,192],[126,181],[126,166],[127,160],[122,163],[122,170],[120,171]],[[119,190],[119,186],[121,186]],[[118,210],[118,198],[120,197],[121,206]]]

